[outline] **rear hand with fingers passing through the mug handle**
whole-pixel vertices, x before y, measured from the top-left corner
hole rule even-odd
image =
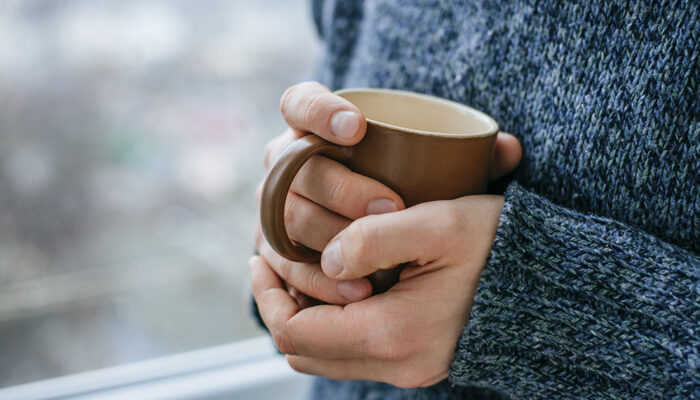
[[[336,144],[353,145],[367,129],[367,122],[355,105],[317,82],[287,89],[280,109],[289,128],[267,144],[268,170],[290,143],[304,135],[315,134]],[[261,187],[262,184],[258,187],[258,207]],[[285,205],[285,226],[293,241],[320,252],[353,220],[403,208],[399,195],[382,183],[326,157],[314,156],[292,182]],[[260,255],[287,283],[302,307],[313,304],[309,297],[347,304],[372,294],[367,278],[340,282],[327,277],[318,264],[296,263],[281,257],[267,243],[259,225],[256,244]]]

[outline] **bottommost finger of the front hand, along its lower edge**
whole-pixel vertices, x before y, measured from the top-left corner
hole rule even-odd
[[[425,387],[447,378],[447,369],[425,371],[425,365],[410,365],[375,359],[323,359],[288,355],[287,362],[296,371],[340,380],[380,381],[403,388]]]

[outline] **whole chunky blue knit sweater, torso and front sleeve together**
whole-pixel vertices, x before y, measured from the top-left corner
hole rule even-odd
[[[524,149],[449,381],[315,398],[700,398],[699,4],[313,2],[332,89],[456,100]]]

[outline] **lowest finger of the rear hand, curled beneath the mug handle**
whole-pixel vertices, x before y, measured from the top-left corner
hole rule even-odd
[[[327,277],[318,265],[287,260],[264,240],[261,241],[258,250],[282,280],[315,299],[344,305],[372,295],[372,284],[366,278],[339,282]]]

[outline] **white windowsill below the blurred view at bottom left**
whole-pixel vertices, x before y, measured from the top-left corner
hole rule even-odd
[[[304,399],[268,337],[0,389],[0,399]]]

